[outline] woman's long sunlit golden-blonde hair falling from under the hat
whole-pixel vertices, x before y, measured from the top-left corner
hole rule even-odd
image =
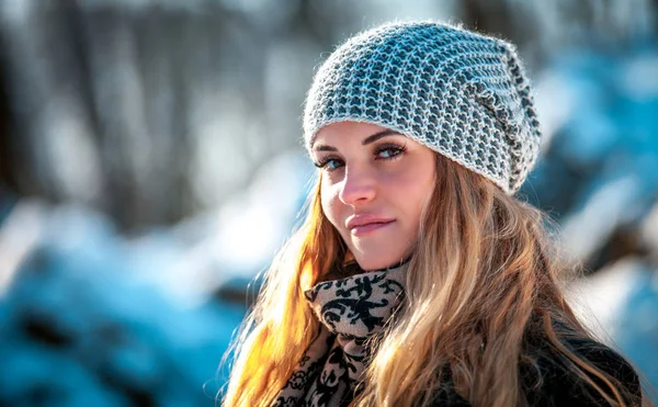
[[[404,307],[373,343],[354,405],[428,405],[445,385],[443,373],[474,406],[526,405],[519,366],[533,370],[538,353],[526,346],[534,335],[610,405],[626,406],[632,395],[624,386],[567,343],[590,336],[558,287],[565,267],[545,226],[549,219],[442,156],[436,173]],[[303,292],[345,255],[322,213],[319,182],[306,221],[268,271],[242,327],[225,406],[269,406],[319,324]]]

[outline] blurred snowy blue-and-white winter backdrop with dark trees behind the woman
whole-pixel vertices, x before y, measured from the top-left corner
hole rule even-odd
[[[658,384],[655,0],[1,0],[0,405],[214,405],[288,236],[304,95],[333,45],[434,18],[519,45],[544,157],[520,197]]]

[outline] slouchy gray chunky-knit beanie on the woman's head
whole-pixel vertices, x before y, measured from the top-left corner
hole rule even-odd
[[[508,194],[534,166],[541,140],[514,46],[435,22],[385,24],[329,56],[306,101],[306,148],[341,121],[399,132]]]

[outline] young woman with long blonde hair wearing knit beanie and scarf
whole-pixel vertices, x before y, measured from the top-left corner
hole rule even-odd
[[[638,406],[512,195],[541,134],[513,46],[434,22],[337,48],[304,120],[319,168],[269,270],[226,406]]]

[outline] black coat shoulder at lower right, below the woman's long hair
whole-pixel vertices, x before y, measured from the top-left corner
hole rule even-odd
[[[639,406],[642,389],[637,373],[620,353],[612,348],[586,338],[569,338],[565,347],[589,366],[610,376],[628,406]],[[520,376],[531,406],[605,406],[605,399],[571,368],[570,360],[548,346],[535,348],[536,355],[520,366]],[[587,371],[586,371],[587,372]],[[605,383],[591,372],[588,377],[610,397],[613,393]]]

